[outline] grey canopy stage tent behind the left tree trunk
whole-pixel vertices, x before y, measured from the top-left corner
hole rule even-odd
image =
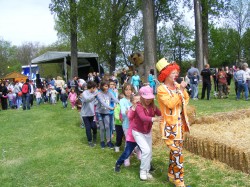
[[[65,79],[67,80],[67,65],[70,65],[71,53],[69,51],[49,51],[31,61],[31,64],[64,63]],[[78,76],[87,79],[90,71],[103,73],[103,68],[98,62],[98,55],[95,53],[78,52]]]

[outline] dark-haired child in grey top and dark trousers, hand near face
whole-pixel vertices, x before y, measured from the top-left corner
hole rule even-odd
[[[97,127],[94,122],[94,106],[96,102],[96,96],[98,95],[98,91],[96,90],[96,83],[94,81],[88,81],[87,83],[88,90],[85,90],[82,93],[82,109],[81,116],[86,126],[86,135],[88,139],[88,144],[90,147],[94,147],[96,145],[96,135],[97,135]],[[93,132],[93,136],[91,133]],[[92,142],[93,137],[93,142]]]

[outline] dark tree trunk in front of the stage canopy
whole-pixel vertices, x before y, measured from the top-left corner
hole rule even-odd
[[[70,0],[71,79],[78,77],[76,1]]]

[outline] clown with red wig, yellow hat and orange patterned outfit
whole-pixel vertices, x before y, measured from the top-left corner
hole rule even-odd
[[[157,97],[163,122],[160,124],[161,135],[170,148],[168,180],[176,187],[185,187],[183,168],[183,134],[189,132],[189,123],[186,115],[186,106],[189,95],[185,89],[187,84],[176,82],[180,67],[169,63],[165,58],[156,64],[159,71],[158,80],[162,82],[157,88]]]

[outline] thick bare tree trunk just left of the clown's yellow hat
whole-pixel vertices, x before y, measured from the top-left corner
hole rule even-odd
[[[156,59],[156,34],[154,19],[154,1],[143,1],[143,31],[144,31],[144,72],[141,78],[147,82],[150,69],[155,69]],[[140,72],[139,72],[140,73]]]

